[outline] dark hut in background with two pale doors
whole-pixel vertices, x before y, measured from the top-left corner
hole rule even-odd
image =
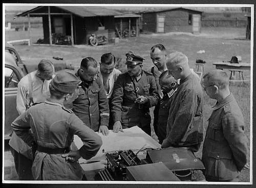
[[[201,32],[201,11],[172,7],[143,11],[140,14],[144,33]]]

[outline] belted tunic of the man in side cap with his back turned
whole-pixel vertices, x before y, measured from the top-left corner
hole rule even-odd
[[[54,99],[37,104],[20,115],[12,123],[17,136],[31,146],[49,150],[70,147],[74,135],[83,142],[79,149],[83,158],[90,159],[102,145],[101,138],[71,111]],[[32,129],[33,136],[29,132]],[[32,174],[35,180],[81,180],[82,171],[78,162],[71,163],[58,154],[36,151]]]

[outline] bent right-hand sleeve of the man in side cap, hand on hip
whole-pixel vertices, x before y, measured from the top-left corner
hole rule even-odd
[[[77,135],[83,142],[83,146],[79,149],[79,154],[85,159],[95,156],[102,145],[100,136],[74,114],[71,115],[69,121],[71,133]]]

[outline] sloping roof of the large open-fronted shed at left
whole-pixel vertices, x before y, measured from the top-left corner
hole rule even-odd
[[[42,6],[36,7],[34,9],[28,10],[26,12],[23,12],[21,14],[18,14],[17,16],[26,16],[28,13],[33,13],[34,10],[40,9]],[[115,16],[115,15],[121,15],[123,13],[118,12],[116,10],[112,9],[106,9],[104,7],[76,7],[76,6],[54,6],[60,9],[63,9],[65,11],[68,11],[70,13],[73,13],[75,15],[78,15],[80,17],[93,17],[93,16]]]

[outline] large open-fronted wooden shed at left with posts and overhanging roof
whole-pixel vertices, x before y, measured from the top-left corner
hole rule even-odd
[[[71,45],[88,44],[91,34],[101,34],[109,40],[115,37],[115,18],[121,12],[104,7],[39,6],[17,16],[42,17],[44,40],[55,44],[55,34],[68,36]]]

